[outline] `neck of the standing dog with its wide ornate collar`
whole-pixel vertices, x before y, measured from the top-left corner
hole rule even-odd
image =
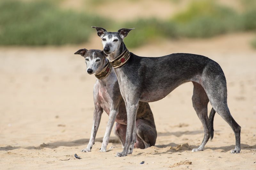
[[[110,59],[110,64],[112,67],[122,67],[127,64],[128,60],[130,59],[130,52],[125,47],[124,43],[120,44],[119,50],[116,52],[108,55]]]

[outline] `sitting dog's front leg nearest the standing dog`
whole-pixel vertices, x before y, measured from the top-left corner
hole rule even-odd
[[[111,130],[114,126],[117,114],[118,114],[118,107],[110,108],[110,113],[109,113],[109,117],[108,117],[108,125],[107,125],[105,135],[103,137],[103,142],[102,142],[101,148],[100,148],[101,152],[106,152],[106,148],[107,148],[108,141],[109,141],[109,136],[110,136]]]

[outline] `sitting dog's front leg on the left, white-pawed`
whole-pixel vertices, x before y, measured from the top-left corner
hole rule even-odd
[[[101,119],[102,112],[103,112],[103,109],[99,105],[95,104],[94,113],[93,113],[92,133],[91,133],[90,141],[87,145],[87,148],[83,149],[82,152],[90,152],[91,151],[92,145],[95,142],[96,133],[97,133],[99,125],[100,125],[100,119]]]

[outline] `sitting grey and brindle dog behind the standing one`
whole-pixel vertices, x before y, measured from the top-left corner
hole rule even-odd
[[[101,50],[80,49],[75,52],[85,58],[87,73],[95,74],[97,81],[93,88],[94,114],[92,134],[87,148],[82,150],[90,152],[95,141],[103,110],[108,114],[108,124],[103,137],[101,152],[105,152],[111,129],[114,128],[115,135],[120,139],[122,146],[125,143],[127,115],[124,100],[121,96],[116,73],[113,71],[107,55]],[[139,102],[139,109],[136,117],[136,148],[144,149],[155,145],[156,126],[154,117],[146,102]]]

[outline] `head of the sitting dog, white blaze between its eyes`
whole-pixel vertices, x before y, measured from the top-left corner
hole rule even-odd
[[[80,54],[84,57],[87,66],[86,72],[89,74],[97,74],[108,62],[107,55],[101,50],[80,49],[75,54]]]

